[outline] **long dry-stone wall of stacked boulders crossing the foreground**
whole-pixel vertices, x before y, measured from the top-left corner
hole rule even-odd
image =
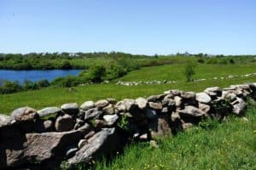
[[[0,115],[0,169],[58,169],[116,153],[131,140],[172,135],[210,117],[242,116],[256,99],[256,83],[207,88],[202,93],[168,90],[148,99],[102,99],[36,111],[22,107]]]

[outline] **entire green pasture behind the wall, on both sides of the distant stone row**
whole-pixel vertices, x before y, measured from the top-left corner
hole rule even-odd
[[[252,72],[256,72],[256,65],[200,64],[196,67],[195,78],[225,77]],[[233,79],[207,80],[204,82],[184,82],[185,77],[183,76],[183,65],[181,64],[144,67],[141,70],[132,71],[119,80],[145,81],[164,79],[179,82],[173,84],[139,85],[132,87],[109,83],[75,87],[75,91],[73,92],[69,92],[68,88],[44,88],[41,90],[20,92],[16,94],[4,94],[0,95],[0,113],[9,115],[15,108],[26,105],[39,110],[47,106],[60,106],[67,102],[77,102],[82,104],[86,100],[147,97],[152,94],[161,94],[167,89],[199,92],[212,86],[224,88],[231,84],[256,82],[256,77],[236,77]]]

